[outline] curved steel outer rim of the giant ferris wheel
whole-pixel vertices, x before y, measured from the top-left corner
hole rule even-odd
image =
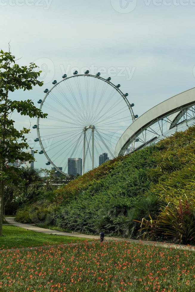
[[[69,77],[65,77],[63,78],[61,81],[59,82],[56,82],[54,84],[54,86],[52,86],[52,88],[50,90],[48,90],[48,92],[46,93],[44,99],[41,101],[41,104],[40,104],[40,110],[42,109],[43,105],[44,105],[44,102],[45,100],[47,99],[49,93],[60,83],[62,83],[63,81],[66,81],[70,78],[75,78],[75,77],[80,77],[80,76],[85,76],[85,77],[93,77],[93,78],[97,78],[97,79],[100,79],[102,80],[103,82],[106,82],[107,84],[109,84],[110,86],[112,86],[120,95],[121,97],[123,97],[123,100],[126,102],[126,105],[128,106],[129,108],[129,111],[130,111],[130,114],[131,114],[131,118],[132,118],[132,122],[135,121],[135,115],[134,115],[134,112],[133,112],[133,109],[131,107],[131,104],[129,102],[129,100],[127,99],[126,95],[120,90],[120,88],[118,88],[116,85],[114,85],[114,83],[110,82],[110,80],[106,80],[105,78],[103,77],[100,77],[100,76],[96,76],[96,75],[92,75],[92,74],[74,74],[72,76],[69,76]],[[57,170],[59,171],[61,174],[65,175],[67,178],[69,177],[69,175],[65,172],[63,172],[62,170],[60,170],[53,162],[52,160],[49,158],[49,156],[47,155],[47,152],[45,151],[44,149],[44,146],[42,144],[42,141],[41,141],[41,136],[40,136],[40,131],[39,131],[39,117],[37,117],[37,135],[38,135],[38,141],[39,141],[39,144],[41,146],[41,150],[43,150],[43,153],[44,155],[46,156],[46,158],[48,159],[48,162],[50,162],[50,164],[52,164],[52,166]]]

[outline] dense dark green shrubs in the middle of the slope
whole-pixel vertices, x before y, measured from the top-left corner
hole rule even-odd
[[[149,173],[155,166],[152,155],[155,151],[156,147],[148,147],[123,157],[105,177],[93,181],[87,191],[77,186],[77,195],[54,216],[55,224],[65,230],[83,233],[105,230],[107,234],[121,234],[127,210],[134,207],[140,194],[155,181]],[[74,193],[75,187],[73,182],[71,184]],[[70,186],[66,188],[70,190]],[[61,191],[63,188],[58,193]]]

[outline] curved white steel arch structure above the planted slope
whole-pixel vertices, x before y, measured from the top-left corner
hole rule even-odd
[[[126,129],[117,142],[115,156],[123,156],[184,131],[195,122],[195,88],[154,106]]]

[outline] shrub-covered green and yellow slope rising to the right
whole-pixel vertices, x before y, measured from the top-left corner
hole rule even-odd
[[[53,222],[64,230],[193,242],[194,170],[193,126],[62,186],[49,207]],[[141,231],[134,220],[143,221]]]

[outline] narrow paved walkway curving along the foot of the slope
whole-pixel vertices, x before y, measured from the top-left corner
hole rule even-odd
[[[80,237],[80,238],[88,238],[88,239],[100,239],[97,235],[88,235],[88,234],[76,234],[76,233],[68,233],[68,232],[61,232],[57,230],[51,230],[51,229],[45,229],[37,226],[33,226],[32,224],[24,224],[15,221],[14,217],[6,217],[6,221],[9,223],[9,225],[17,226],[20,228],[24,228],[27,230],[35,231],[35,232],[41,232],[45,234],[56,234],[56,235],[64,235],[64,236],[73,236],[73,237]],[[105,240],[121,240],[121,241],[128,241],[131,243],[141,243],[146,245],[155,245],[155,246],[163,246],[166,248],[179,248],[183,250],[191,250],[195,251],[195,246],[187,246],[182,244],[174,244],[174,243],[162,243],[162,242],[156,242],[156,241],[146,241],[146,240],[136,240],[136,239],[126,239],[126,238],[117,238],[117,237],[104,237]]]

